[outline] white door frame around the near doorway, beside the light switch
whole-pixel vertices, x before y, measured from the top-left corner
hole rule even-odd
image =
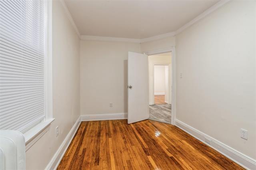
[[[176,60],[175,60],[175,47],[156,49],[152,51],[144,51],[144,54],[155,55],[160,53],[172,52],[172,120],[171,124],[175,125],[176,120]]]

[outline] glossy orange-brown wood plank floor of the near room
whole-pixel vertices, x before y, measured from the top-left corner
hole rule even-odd
[[[179,128],[155,121],[82,122],[62,169],[243,169]]]

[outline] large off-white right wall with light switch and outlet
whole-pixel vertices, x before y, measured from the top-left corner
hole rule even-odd
[[[228,2],[176,36],[176,118],[254,159],[255,3]]]

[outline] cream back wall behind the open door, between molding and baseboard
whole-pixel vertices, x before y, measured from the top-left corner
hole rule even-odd
[[[81,40],[80,50],[81,115],[127,113],[128,51],[140,44]]]

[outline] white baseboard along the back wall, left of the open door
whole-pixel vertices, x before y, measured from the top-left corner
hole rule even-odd
[[[104,121],[104,120],[117,120],[117,119],[127,119],[127,113],[81,115],[81,121]]]

